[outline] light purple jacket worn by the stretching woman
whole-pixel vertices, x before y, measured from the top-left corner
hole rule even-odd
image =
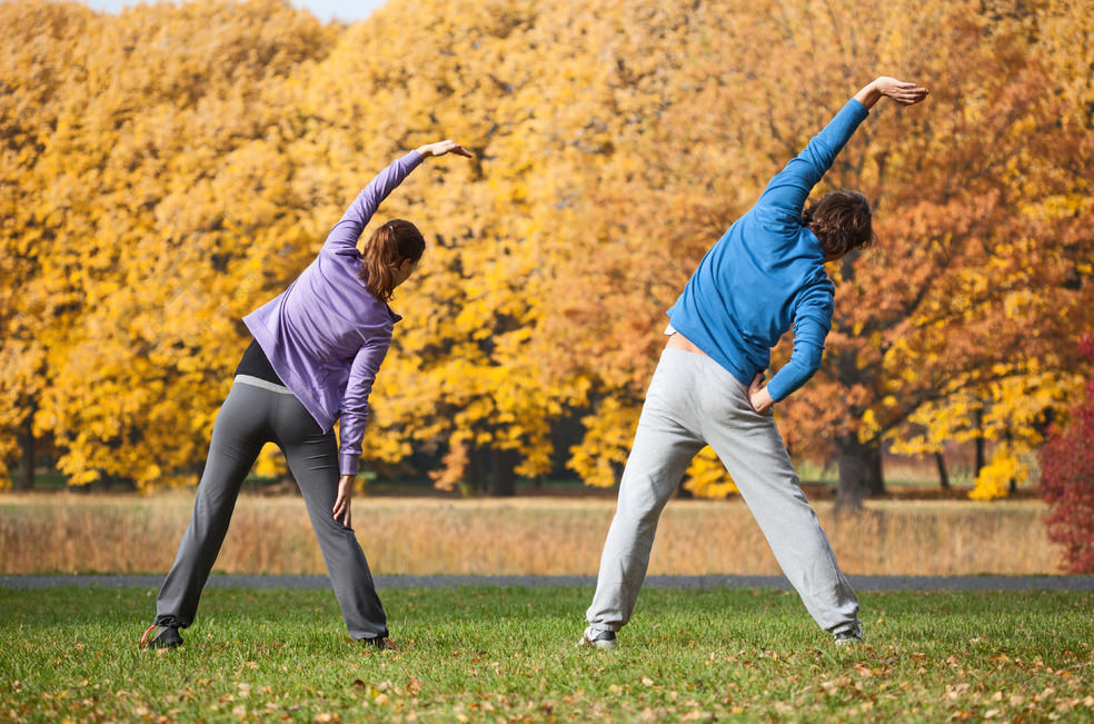
[[[421,161],[410,151],[380,171],[330,230],[316,260],[281,295],[243,317],[278,377],[322,430],[341,418],[342,475],[357,474],[368,394],[402,318],[365,288],[357,240],[380,202]]]

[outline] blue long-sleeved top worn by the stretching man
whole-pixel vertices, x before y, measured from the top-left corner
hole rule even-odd
[[[835,288],[802,209],[868,111],[852,99],[703,257],[676,305],[673,327],[748,385],[794,326],[794,351],[767,390],[778,401],[817,369],[832,328]]]

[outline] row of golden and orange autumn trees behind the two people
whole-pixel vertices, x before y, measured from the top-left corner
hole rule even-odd
[[[796,459],[838,466],[844,502],[882,489],[883,446],[944,464],[955,442],[986,450],[974,495],[1006,495],[1090,373],[1092,16],[388,0],[345,26],[278,0],[2,2],[0,465],[44,450],[72,485],[192,482],[240,318],[376,171],[456,138],[475,160],[420,169],[374,221],[408,218],[429,247],[394,303],[367,465],[611,485],[702,255],[892,73],[932,96],[877,107],[817,189],[864,191],[879,244],[829,265],[825,365],[776,414]],[[732,489],[709,449],[685,485]]]

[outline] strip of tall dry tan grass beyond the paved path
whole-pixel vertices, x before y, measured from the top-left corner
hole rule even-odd
[[[0,574],[166,573],[193,494],[0,496]],[[861,514],[815,505],[845,572],[859,575],[1058,573],[1036,500],[868,502]],[[377,574],[595,575],[613,499],[365,496],[357,536]],[[217,571],[324,574],[304,500],[243,495]],[[652,574],[777,575],[740,500],[673,500]]]

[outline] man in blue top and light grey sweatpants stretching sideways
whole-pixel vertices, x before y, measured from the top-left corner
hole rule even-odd
[[[874,240],[862,194],[834,191],[803,211],[805,201],[882,97],[911,106],[926,95],[886,77],[859,90],[707,251],[668,310],[668,343],[646,393],[579,645],[616,645],[645,581],[660,512],[705,445],[733,475],[814,619],[837,644],[862,638],[858,599],[770,409],[820,367],[835,294],[824,265]],[[790,360],[765,387],[770,348],[792,325]]]

